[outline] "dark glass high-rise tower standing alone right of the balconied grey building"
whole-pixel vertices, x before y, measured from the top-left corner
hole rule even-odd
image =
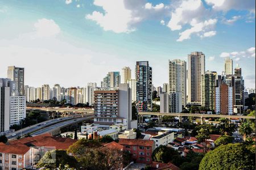
[[[137,61],[135,67],[136,100],[139,112],[147,112],[152,109],[152,68],[148,61]]]

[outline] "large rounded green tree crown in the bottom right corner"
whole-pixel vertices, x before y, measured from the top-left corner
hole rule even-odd
[[[219,146],[205,154],[199,169],[255,169],[255,148],[242,143]]]

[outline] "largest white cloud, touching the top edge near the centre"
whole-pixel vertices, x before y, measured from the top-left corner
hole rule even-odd
[[[129,33],[136,30],[136,25],[147,18],[163,18],[163,3],[152,6],[144,0],[94,0],[95,6],[102,7],[104,12],[93,11],[85,16],[86,19],[93,20],[105,31],[115,33]]]

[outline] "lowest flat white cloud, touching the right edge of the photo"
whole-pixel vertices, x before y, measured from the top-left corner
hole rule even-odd
[[[245,51],[241,51],[241,52],[224,52],[220,54],[220,57],[232,57],[234,58],[235,61],[240,60],[241,58],[251,58],[251,57],[255,57],[255,47],[251,47]]]

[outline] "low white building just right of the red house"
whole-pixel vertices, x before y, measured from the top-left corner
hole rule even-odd
[[[174,142],[174,132],[159,131],[158,135],[150,138],[150,140],[155,141],[155,148],[160,145],[167,145],[170,142]]]

